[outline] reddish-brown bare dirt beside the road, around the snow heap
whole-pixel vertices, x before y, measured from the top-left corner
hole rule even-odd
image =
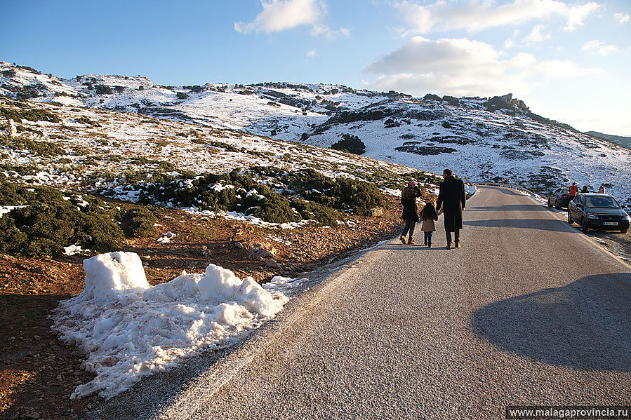
[[[397,236],[400,206],[396,198],[385,198],[387,208],[377,217],[286,230],[160,209],[157,235],[129,240],[121,251],[140,255],[152,285],[184,270],[201,273],[210,263],[258,282],[300,276]],[[167,231],[175,233],[171,243],[158,243]],[[85,258],[0,255],[0,419],[78,419],[102,403],[96,395],[69,399],[93,374],[82,369],[82,355],[58,339],[48,319],[60,300],[83,290]]]

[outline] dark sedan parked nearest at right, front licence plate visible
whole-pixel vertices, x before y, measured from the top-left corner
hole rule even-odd
[[[567,221],[580,224],[583,232],[600,229],[627,233],[630,224],[629,215],[609,194],[578,194],[569,203]]]

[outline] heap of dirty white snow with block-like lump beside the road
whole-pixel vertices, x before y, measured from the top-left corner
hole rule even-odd
[[[60,302],[53,330],[87,354],[96,377],[71,397],[98,392],[109,399],[154,372],[205,349],[229,345],[273,318],[288,302],[284,293],[301,280],[275,277],[261,287],[209,264],[151,287],[140,257],[112,252],[84,260],[84,291]]]

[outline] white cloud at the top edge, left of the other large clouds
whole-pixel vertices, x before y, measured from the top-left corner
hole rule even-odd
[[[310,26],[313,36],[350,36],[346,28],[337,31],[328,28],[321,20],[326,15],[324,0],[260,0],[261,11],[252,22],[234,22],[234,30],[241,34],[249,32],[281,32],[300,26]]]

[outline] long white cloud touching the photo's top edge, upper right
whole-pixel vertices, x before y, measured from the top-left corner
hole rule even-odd
[[[406,36],[428,34],[434,30],[479,31],[552,16],[564,18],[564,29],[572,31],[582,26],[583,20],[602,6],[594,1],[571,6],[559,0],[514,0],[511,4],[499,6],[494,0],[470,0],[465,4],[437,0],[434,4],[423,6],[416,1],[404,0],[394,7],[407,25],[407,29],[402,31]]]

